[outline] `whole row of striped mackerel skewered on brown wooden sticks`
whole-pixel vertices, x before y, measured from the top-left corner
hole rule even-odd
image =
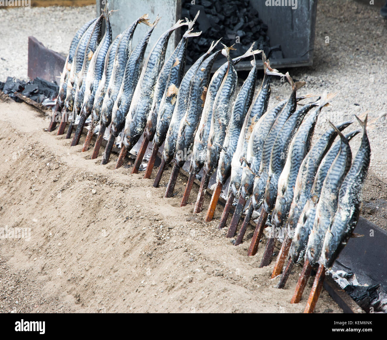
[[[173,163],[166,197],[173,195],[180,168],[190,162],[190,174],[181,206],[187,204],[195,176],[203,168],[194,212],[202,210],[209,179],[216,171],[216,188],[205,217],[211,221],[222,187],[230,178],[228,200],[219,228],[226,226],[233,202],[237,200],[227,236],[234,237],[240,217],[245,219],[235,239],[242,242],[253,211],[260,211],[248,255],[255,255],[265,226],[272,226],[261,266],[272,258],[277,238],[283,239],[281,252],[273,271],[279,275],[290,255],[281,278],[284,286],[293,263],[305,259],[306,271],[315,266],[331,267],[356,226],[361,191],[370,163],[370,144],[366,132],[367,118],[358,118],[361,129],[343,130],[354,121],[332,125],[312,144],[313,132],[322,108],[335,96],[324,92],[308,104],[298,102],[312,95],[297,96],[305,82],[294,82],[270,67],[264,53],[250,47],[232,59],[232,47],[216,50],[213,42],[185,72],[188,39],[197,16],[179,20],[154,44],[146,60],[144,54],[159,18],[150,23],[147,15],[139,17],[114,40],[107,6],[101,16],[87,22],[70,45],[60,81],[60,91],[50,131],[60,121],[58,135],[70,138],[79,115],[71,145],[79,143],[87,118],[90,129],[83,151],[89,149],[99,123],[92,159],[98,157],[103,135],[110,127],[102,164],[109,161],[116,137],[122,134],[122,148],[116,168],[143,136],[133,166],[137,173],[148,147],[152,152],[144,178],[150,178],[159,148],[164,144],[161,165],[154,179],[158,187],[166,164]],[[198,13],[199,14],[199,13]],[[104,35],[102,22],[106,21]],[[132,38],[139,24],[149,26],[147,33],[132,50]],[[186,31],[169,58],[166,50],[171,34],[179,27]],[[262,54],[264,78],[257,83],[255,56]],[[219,55],[227,61],[211,77]],[[247,79],[237,91],[236,63],[252,58]],[[291,85],[291,94],[269,107],[272,76],[283,77]],[[255,94],[256,92],[256,94]],[[361,145],[353,158],[349,140],[362,133]],[[190,155],[191,157],[187,157]],[[353,160],[352,160],[353,158]],[[246,203],[248,202],[247,207]],[[276,231],[283,230],[283,237]],[[299,293],[298,293],[299,294]],[[302,292],[301,292],[302,294]],[[297,301],[296,301],[297,302]]]

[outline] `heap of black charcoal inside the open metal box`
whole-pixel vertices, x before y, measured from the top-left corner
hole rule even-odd
[[[199,26],[197,31],[202,31],[202,34],[188,41],[189,65],[192,65],[191,60],[197,60],[207,51],[212,41],[219,38],[226,46],[234,44],[236,51],[231,51],[233,57],[243,54],[255,42],[254,48],[264,50],[268,58],[283,58],[280,45],[270,47],[268,26],[249,0],[201,0],[197,5],[183,0],[182,18],[192,20],[198,10],[200,14],[196,27]]]

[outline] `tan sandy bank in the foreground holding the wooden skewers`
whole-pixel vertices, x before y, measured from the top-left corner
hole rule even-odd
[[[0,226],[31,228],[30,241],[0,242],[0,312],[305,308],[306,297],[289,303],[300,267],[287,289],[276,289],[274,264],[258,268],[263,245],[246,256],[249,242],[233,246],[216,220],[204,223],[192,205],[178,207],[181,195],[164,199],[164,187],[142,174],[113,170],[116,157],[99,166],[91,150],[44,132],[48,122],[26,104],[0,103],[0,110],[7,131],[0,137]],[[325,291],[317,311],[341,312]]]

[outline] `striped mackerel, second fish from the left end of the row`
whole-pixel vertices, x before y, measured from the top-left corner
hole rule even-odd
[[[86,30],[82,38],[80,38],[77,48],[75,49],[74,59],[71,65],[70,74],[67,81],[67,91],[65,99],[65,109],[67,112],[72,112],[74,109],[75,91],[78,85],[79,73],[82,70],[83,62],[85,59],[86,49],[89,43],[89,39],[96,29],[96,26],[100,26],[103,15],[98,17]]]

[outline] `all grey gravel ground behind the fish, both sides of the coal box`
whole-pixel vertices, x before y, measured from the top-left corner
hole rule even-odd
[[[367,2],[368,3],[368,2]],[[381,117],[369,135],[372,146],[370,170],[387,181],[387,21],[379,17],[378,5],[364,5],[353,0],[320,1],[318,4],[314,63],[312,67],[292,68],[294,80],[307,85],[300,95],[339,92],[332,106],[324,108],[317,124],[317,137],[327,127],[327,119],[341,122],[353,114],[370,111],[370,118]],[[95,16],[93,6],[47,7],[0,10],[0,80],[13,75],[27,78],[27,37],[35,36],[45,46],[66,54],[77,29]],[[17,40],[15,30],[17,28]],[[326,43],[329,37],[329,43]],[[286,72],[287,70],[282,70]],[[243,77],[246,73],[241,73]],[[274,79],[271,104],[287,97],[289,84]],[[360,138],[355,138],[353,153]]]

